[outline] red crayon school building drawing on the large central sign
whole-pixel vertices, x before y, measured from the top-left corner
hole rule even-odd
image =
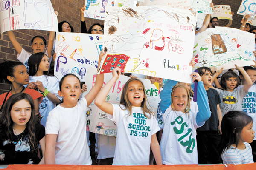
[[[105,61],[103,62],[101,73],[109,73],[114,68],[119,67],[121,72],[125,71],[125,65],[130,59],[129,56],[125,54],[114,54],[110,55],[108,54],[105,58]]]

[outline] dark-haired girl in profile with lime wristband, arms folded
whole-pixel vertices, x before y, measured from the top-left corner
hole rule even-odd
[[[39,111],[43,116],[41,124],[45,126],[49,112],[61,102],[61,97],[58,96],[58,79],[48,75],[48,57],[43,52],[32,54],[28,63],[30,80],[27,88],[38,90],[44,96]]]

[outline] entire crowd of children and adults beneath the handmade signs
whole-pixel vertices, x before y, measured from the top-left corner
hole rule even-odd
[[[84,11],[85,6],[81,8],[81,32],[103,34],[103,26],[98,23],[87,31]],[[218,18],[210,20],[207,15],[196,33],[204,31],[208,24],[218,26]],[[74,32],[67,21],[58,27],[62,32]],[[241,29],[249,31],[249,27],[243,24]],[[193,101],[191,84],[167,80],[163,85],[163,79],[147,77],[152,84],[158,83],[160,91],[155,116],[147,107],[140,79],[131,77],[123,86],[120,103],[111,104],[105,99],[121,74],[116,67],[104,86],[104,74],[97,74],[93,88],[79,99],[87,86],[76,75],[66,74],[58,82],[49,73],[56,57],[54,32],[49,34],[48,46],[44,37],[33,37],[34,54],[21,47],[13,31],[7,34],[20,62],[0,63],[0,81],[11,84],[11,90],[0,95],[0,164],[91,165],[86,112],[93,100],[117,127],[116,138],[95,136],[99,165],[149,165],[153,160],[157,165],[256,161],[255,61],[251,66],[235,65],[239,74],[198,68],[190,75],[198,84],[197,102]],[[98,63],[105,54],[102,50]],[[195,66],[193,59],[189,65]],[[115,148],[108,148],[105,141],[111,141]]]

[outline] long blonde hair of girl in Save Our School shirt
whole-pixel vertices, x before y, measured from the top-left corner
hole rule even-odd
[[[129,80],[125,83],[124,88],[123,88],[123,90],[122,90],[122,94],[121,94],[120,105],[124,105],[124,106],[125,106],[125,109],[124,109],[124,110],[128,109],[128,111],[129,111],[129,115],[128,115],[128,116],[130,116],[130,115],[131,115],[131,110],[132,110],[132,104],[131,104],[131,102],[130,102],[129,99],[128,99],[128,85],[129,85],[129,83],[130,83],[131,81],[134,81],[134,80],[139,81],[139,82],[142,84],[142,86],[143,86],[144,99],[143,99],[143,101],[141,102],[140,107],[143,109],[143,114],[144,114],[144,116],[145,116],[146,118],[150,119],[150,118],[151,118],[151,114],[152,114],[153,116],[154,116],[154,114],[153,114],[153,112],[152,112],[150,109],[147,108],[147,103],[146,103],[146,101],[147,101],[147,96],[146,96],[145,86],[143,85],[143,82],[142,82],[140,79],[132,78],[132,79],[129,79]],[[121,109],[122,109],[122,108],[121,108]],[[150,116],[148,116],[146,113],[149,113]]]

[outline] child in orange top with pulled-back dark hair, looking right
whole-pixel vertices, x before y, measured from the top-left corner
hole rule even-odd
[[[11,90],[0,95],[0,107],[15,93],[27,93],[34,100],[35,113],[39,112],[39,104],[42,102],[43,96],[33,89],[25,88],[24,85],[29,83],[29,74],[26,66],[17,61],[5,61],[0,63],[0,81],[5,80],[12,84]],[[2,108],[1,108],[2,109]]]

